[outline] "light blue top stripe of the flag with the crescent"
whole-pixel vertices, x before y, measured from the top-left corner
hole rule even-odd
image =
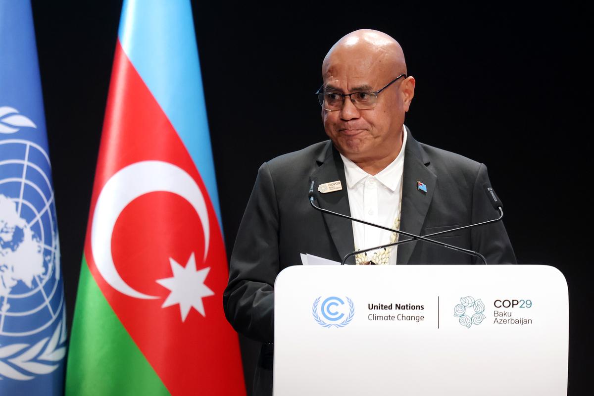
[[[194,160],[222,228],[189,0],[125,0],[118,36]]]

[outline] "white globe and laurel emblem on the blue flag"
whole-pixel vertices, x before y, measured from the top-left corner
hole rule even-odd
[[[0,380],[48,374],[65,356],[50,169],[36,143],[0,140]]]

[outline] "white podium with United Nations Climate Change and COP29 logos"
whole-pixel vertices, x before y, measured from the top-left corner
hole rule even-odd
[[[567,395],[545,265],[297,265],[274,284],[274,395]]]

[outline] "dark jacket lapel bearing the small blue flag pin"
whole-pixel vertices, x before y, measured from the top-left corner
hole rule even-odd
[[[437,176],[428,168],[430,163],[419,142],[413,139],[410,131],[406,138],[404,174],[402,178],[402,214],[400,230],[419,235],[425,222],[433,192],[437,187]],[[425,184],[427,192],[418,189],[418,182]],[[400,235],[399,239],[409,237]],[[397,264],[408,264],[418,241],[398,246]],[[420,242],[425,243],[425,242]]]

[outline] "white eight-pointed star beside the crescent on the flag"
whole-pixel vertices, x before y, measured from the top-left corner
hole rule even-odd
[[[179,304],[182,322],[187,318],[191,307],[194,307],[202,316],[206,316],[202,298],[214,295],[214,292],[204,284],[210,267],[196,271],[194,253],[189,256],[185,268],[172,258],[169,258],[169,262],[173,271],[173,277],[157,280],[157,283],[161,286],[171,290],[171,293],[169,293],[161,308]]]

